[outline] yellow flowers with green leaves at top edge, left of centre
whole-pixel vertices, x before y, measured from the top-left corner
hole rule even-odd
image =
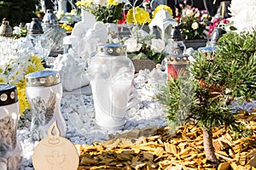
[[[125,2],[120,0],[85,0],[78,1],[76,5],[91,14],[94,14],[96,21],[103,23],[117,23],[123,19],[122,11]]]

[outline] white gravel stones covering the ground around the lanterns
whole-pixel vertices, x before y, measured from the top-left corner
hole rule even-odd
[[[95,110],[92,95],[84,94],[64,94],[61,99],[61,112],[67,123],[66,138],[73,144],[92,144],[95,141],[103,141],[109,138],[109,134],[125,133],[131,129],[143,127],[166,126],[164,110],[155,101],[155,90],[148,85],[148,73],[150,71],[140,71],[135,79],[137,88],[137,98],[139,104],[127,111],[124,129],[119,131],[108,131],[100,129],[95,122]],[[152,81],[152,80],[151,80]],[[133,96],[134,97],[134,96]],[[235,105],[236,108],[250,110],[256,102],[249,105]],[[234,107],[235,107],[234,106]],[[255,107],[254,107],[255,108]],[[18,137],[23,148],[23,163],[21,170],[32,170],[32,153],[38,144],[34,143],[30,134],[31,113],[27,111],[25,116],[20,117],[18,127]]]

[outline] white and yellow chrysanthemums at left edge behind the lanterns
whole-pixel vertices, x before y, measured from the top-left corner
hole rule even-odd
[[[0,83],[15,85],[18,92],[20,114],[29,108],[26,100],[25,75],[44,70],[41,59],[31,54],[26,38],[9,39],[0,37]]]

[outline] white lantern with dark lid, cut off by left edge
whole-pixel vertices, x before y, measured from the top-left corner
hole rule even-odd
[[[22,149],[17,138],[20,106],[16,87],[0,84],[0,169],[20,169]]]

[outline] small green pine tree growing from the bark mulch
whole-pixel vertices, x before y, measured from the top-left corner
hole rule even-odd
[[[256,99],[256,31],[228,32],[218,41],[211,59],[199,54],[189,64],[187,77],[171,79],[157,98],[166,107],[173,127],[195,121],[204,129],[206,156],[218,165],[212,144],[212,127],[224,126],[241,138],[249,132],[236,115],[244,102]],[[236,108],[236,109],[234,109]]]

